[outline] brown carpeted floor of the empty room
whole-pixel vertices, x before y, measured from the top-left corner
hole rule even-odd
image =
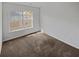
[[[79,49],[39,32],[4,42],[0,56],[79,57]]]

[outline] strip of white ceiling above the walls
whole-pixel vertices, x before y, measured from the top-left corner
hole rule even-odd
[[[79,2],[19,2],[18,4],[29,5],[33,7],[52,7],[52,6],[59,6],[59,5],[79,6]]]

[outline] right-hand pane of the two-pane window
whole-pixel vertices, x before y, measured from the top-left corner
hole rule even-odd
[[[33,13],[31,10],[23,12],[23,26],[24,28],[33,27]]]

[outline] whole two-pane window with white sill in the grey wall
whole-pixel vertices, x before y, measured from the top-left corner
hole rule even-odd
[[[10,15],[10,31],[33,28],[33,12],[31,10],[12,11]]]

